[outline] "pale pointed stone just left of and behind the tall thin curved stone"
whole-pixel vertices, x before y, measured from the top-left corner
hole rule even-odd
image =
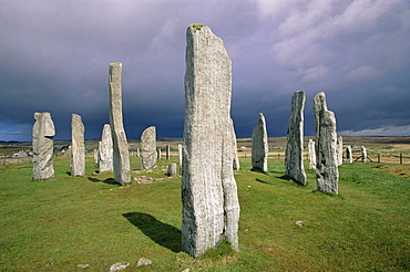
[[[99,168],[100,172],[113,170],[113,142],[111,136],[111,126],[105,124],[99,143]]]

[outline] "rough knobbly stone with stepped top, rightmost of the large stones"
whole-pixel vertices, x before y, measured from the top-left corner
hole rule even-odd
[[[314,98],[316,127],[316,179],[319,191],[338,193],[337,134],[334,112],[328,111],[324,92]]]

